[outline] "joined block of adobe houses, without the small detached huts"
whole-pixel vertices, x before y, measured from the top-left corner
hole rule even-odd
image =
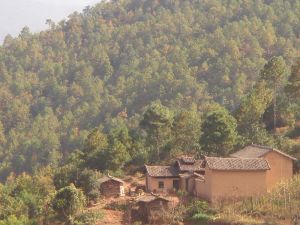
[[[260,195],[291,178],[295,160],[254,144],[228,158],[181,157],[172,166],[146,166],[146,189],[154,193],[181,189],[210,202]]]

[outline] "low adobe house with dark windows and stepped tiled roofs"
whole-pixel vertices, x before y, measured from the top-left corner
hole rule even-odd
[[[195,179],[204,174],[203,160],[181,157],[172,166],[145,166],[148,192],[185,190],[193,193]]]

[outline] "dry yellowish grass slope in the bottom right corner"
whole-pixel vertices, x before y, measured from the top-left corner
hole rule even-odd
[[[297,224],[300,217],[300,175],[276,186],[261,197],[231,200],[215,205],[218,217],[233,224]]]

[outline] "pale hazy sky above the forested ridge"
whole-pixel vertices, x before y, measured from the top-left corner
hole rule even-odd
[[[24,26],[36,32],[46,19],[58,22],[100,0],[0,0],[0,43],[7,34],[17,36]]]

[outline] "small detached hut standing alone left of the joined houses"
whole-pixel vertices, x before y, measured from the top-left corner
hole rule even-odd
[[[112,177],[104,176],[98,180],[100,192],[105,197],[125,196],[124,181]]]

